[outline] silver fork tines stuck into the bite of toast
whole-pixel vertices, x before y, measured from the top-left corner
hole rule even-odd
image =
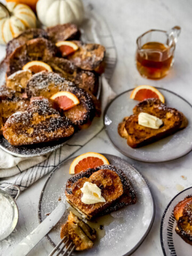
[[[63,245],[61,246],[61,249],[59,250],[59,252],[57,252],[57,250],[59,249],[59,246],[63,243]],[[54,247],[53,251],[49,254],[49,256],[52,256],[54,253],[54,256],[70,256],[73,251],[75,250],[75,245],[73,244],[73,242],[70,242],[70,244],[68,245],[67,249],[65,249],[66,244],[69,243],[69,239],[64,236],[62,238],[62,240]]]

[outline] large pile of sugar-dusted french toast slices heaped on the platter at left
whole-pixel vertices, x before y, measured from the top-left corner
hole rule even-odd
[[[44,29],[33,28],[13,38],[6,46],[6,84],[0,87],[1,134],[11,145],[31,145],[61,138],[89,126],[100,115],[96,98],[99,75],[104,70],[105,47],[79,41],[74,24]],[[63,57],[57,42],[69,41],[77,50]],[[51,71],[23,69],[41,61]],[[69,92],[78,105],[60,108],[51,99]],[[63,100],[65,100],[63,98]]]

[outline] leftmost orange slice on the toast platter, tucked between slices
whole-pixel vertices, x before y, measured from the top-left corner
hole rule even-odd
[[[52,72],[52,68],[43,61],[34,60],[28,62],[25,66],[22,67],[23,70],[30,70],[32,73],[38,73],[41,71],[50,71]]]

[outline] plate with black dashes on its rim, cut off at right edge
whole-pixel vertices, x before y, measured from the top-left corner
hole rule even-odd
[[[167,205],[161,222],[161,245],[165,256],[191,256],[192,246],[177,235],[175,227],[177,222],[173,217],[174,206],[186,196],[192,195],[192,187],[177,194]]]

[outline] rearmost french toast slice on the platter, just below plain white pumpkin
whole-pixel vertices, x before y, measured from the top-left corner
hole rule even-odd
[[[48,27],[46,32],[53,43],[78,39],[81,35],[80,30],[73,23],[65,23],[63,25]]]

